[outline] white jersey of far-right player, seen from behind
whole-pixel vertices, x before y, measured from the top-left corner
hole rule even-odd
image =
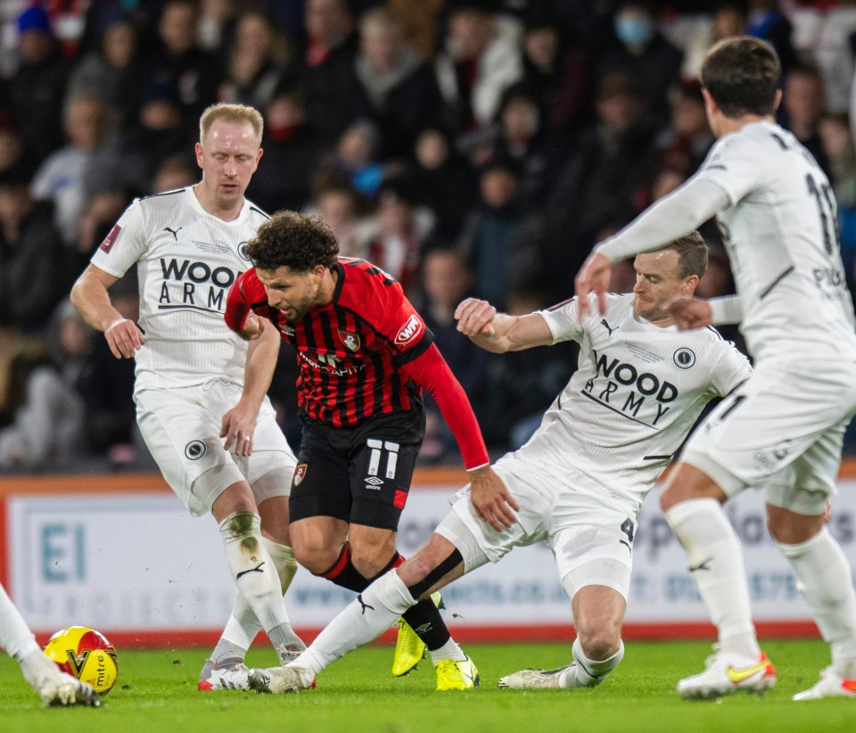
[[[696,177],[720,185],[731,203],[717,218],[749,353],[856,360],[835,197],[811,153],[785,129],[757,122],[720,138]]]

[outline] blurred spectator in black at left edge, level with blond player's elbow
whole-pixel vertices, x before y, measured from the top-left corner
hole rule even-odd
[[[63,257],[53,204],[29,194],[27,167],[0,172],[0,325],[42,333],[75,274]]]

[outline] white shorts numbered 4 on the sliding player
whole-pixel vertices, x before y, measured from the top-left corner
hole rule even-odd
[[[497,563],[513,548],[546,540],[556,557],[559,581],[571,597],[583,586],[605,585],[627,599],[635,517],[606,507],[572,485],[560,485],[556,477],[520,457],[506,457],[494,470],[520,507],[517,522],[504,531],[494,530],[475,513],[466,486],[435,530],[464,556],[465,572],[485,561]]]

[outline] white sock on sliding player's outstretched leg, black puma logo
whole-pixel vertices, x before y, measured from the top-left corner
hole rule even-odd
[[[379,637],[415,604],[399,573],[394,569],[385,573],[326,625],[294,665],[317,674],[329,663]]]

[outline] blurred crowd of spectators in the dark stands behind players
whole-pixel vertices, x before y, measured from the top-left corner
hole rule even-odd
[[[197,180],[199,116],[218,101],[265,117],[248,197],[317,213],[342,255],[399,279],[491,449],[521,445],[576,351],[489,356],[457,333],[455,305],[570,297],[592,246],[704,161],[701,60],[741,33],[782,59],[779,121],[832,181],[853,287],[856,2],[4,0],[0,470],[144,464],[133,364],[68,293],[129,202]],[[698,294],[733,292],[715,223],[703,234]],[[613,290],[634,277],[616,265]],[[133,276],[117,288],[134,317]],[[293,441],[283,351],[272,396]],[[429,408],[424,460],[457,461]]]

